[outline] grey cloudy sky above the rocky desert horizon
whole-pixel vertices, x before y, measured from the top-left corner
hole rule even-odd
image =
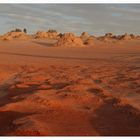
[[[0,34],[15,28],[140,34],[140,4],[0,4]]]

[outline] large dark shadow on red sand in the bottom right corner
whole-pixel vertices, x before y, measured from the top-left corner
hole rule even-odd
[[[96,111],[92,125],[102,136],[140,136],[140,112],[130,105],[106,100]]]

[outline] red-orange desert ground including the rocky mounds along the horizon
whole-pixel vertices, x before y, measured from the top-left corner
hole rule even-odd
[[[0,36],[0,135],[140,136],[140,37]]]

